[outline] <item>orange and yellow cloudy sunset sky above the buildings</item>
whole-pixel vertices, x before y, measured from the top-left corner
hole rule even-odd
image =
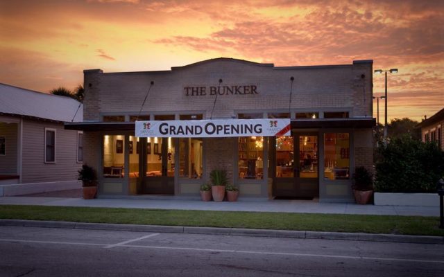
[[[444,107],[443,26],[443,0],[0,0],[0,82],[48,92],[74,89],[83,69],[371,59],[399,69],[388,75],[388,118],[420,120]],[[382,95],[384,75],[373,82]]]

